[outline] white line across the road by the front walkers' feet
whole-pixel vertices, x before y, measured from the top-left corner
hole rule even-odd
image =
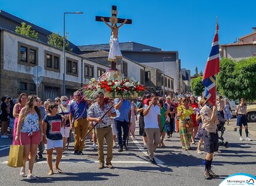
[[[67,160],[67,159],[66,159]],[[8,161],[3,161],[1,164],[7,164]],[[44,164],[44,163],[47,163],[47,161],[38,161],[36,162],[36,164]],[[99,161],[97,160],[62,160],[61,163],[99,163]],[[149,164],[150,162],[149,161],[111,161],[111,163],[127,163],[127,164],[130,164],[130,163],[139,163],[139,164]]]

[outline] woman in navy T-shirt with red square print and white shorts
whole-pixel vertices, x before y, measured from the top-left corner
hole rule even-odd
[[[52,169],[52,153],[54,148],[57,153],[54,169],[59,173],[62,172],[61,169],[59,169],[59,163],[63,152],[62,134],[60,133],[62,116],[58,114],[58,108],[59,106],[56,103],[51,103],[48,107],[49,113],[44,116],[43,119],[43,142],[46,144],[45,149],[47,154],[47,163],[50,169],[48,175],[52,175],[54,173]]]

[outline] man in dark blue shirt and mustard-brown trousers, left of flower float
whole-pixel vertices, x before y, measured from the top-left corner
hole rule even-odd
[[[81,92],[76,91],[74,92],[74,99],[70,105],[70,130],[73,128],[74,130],[74,138],[75,138],[75,147],[74,147],[74,155],[83,155],[83,147],[85,145],[85,140],[82,140],[82,137],[85,136],[86,132],[88,131],[88,121],[87,121],[87,110],[88,110],[88,103],[86,100],[83,99]],[[77,110],[77,112],[76,112]],[[75,115],[76,113],[76,115]],[[75,123],[72,124],[72,119],[75,119]]]

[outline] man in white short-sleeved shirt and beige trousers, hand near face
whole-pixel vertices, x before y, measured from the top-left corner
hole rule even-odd
[[[143,111],[145,132],[147,134],[147,150],[152,164],[157,164],[154,159],[154,151],[160,143],[160,131],[162,131],[160,107],[157,105],[158,100],[159,94],[152,93],[151,101],[149,105],[144,105]]]

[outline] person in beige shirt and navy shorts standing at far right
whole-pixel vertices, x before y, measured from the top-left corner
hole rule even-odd
[[[240,104],[236,106],[236,125],[239,126],[239,135],[240,135],[240,140],[244,140],[242,138],[242,125],[244,125],[244,129],[246,131],[246,140],[251,141],[249,137],[249,132],[248,132],[248,125],[247,125],[247,117],[246,117],[246,100],[244,98],[240,99]]]

